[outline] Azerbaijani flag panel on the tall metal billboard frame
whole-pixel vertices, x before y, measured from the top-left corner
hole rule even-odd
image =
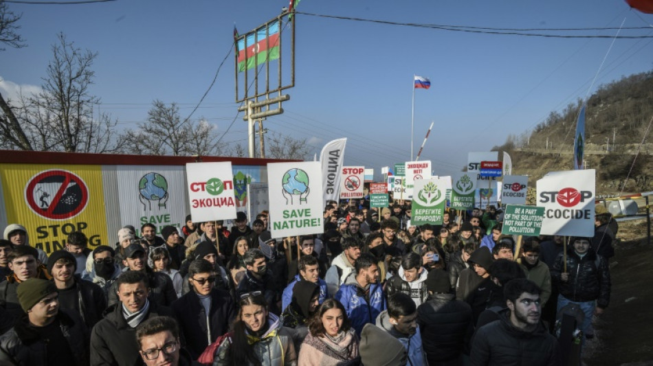
[[[247,40],[247,48],[245,48]],[[238,40],[238,71],[243,72],[263,62],[279,58],[279,21],[269,23]]]

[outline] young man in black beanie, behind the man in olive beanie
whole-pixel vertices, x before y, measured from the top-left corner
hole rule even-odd
[[[67,251],[54,251],[47,261],[47,271],[59,292],[60,308],[80,314],[90,329],[102,319],[107,299],[100,286],[75,274],[76,266],[74,255]]]

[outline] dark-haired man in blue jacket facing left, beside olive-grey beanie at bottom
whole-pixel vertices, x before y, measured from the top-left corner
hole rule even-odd
[[[417,325],[417,306],[409,295],[396,293],[388,296],[388,310],[377,317],[377,327],[399,339],[408,352],[408,365],[425,365],[421,332]]]

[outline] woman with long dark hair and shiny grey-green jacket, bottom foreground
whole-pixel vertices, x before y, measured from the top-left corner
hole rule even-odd
[[[221,341],[213,366],[297,365],[291,332],[279,318],[268,311],[267,301],[259,291],[244,293],[232,330]]]

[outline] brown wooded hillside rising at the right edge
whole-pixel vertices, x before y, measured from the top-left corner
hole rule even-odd
[[[510,135],[492,150],[509,152],[513,174],[529,175],[529,185],[546,172],[573,168],[573,137],[581,101],[522,135]],[[634,159],[653,118],[653,71],[626,76],[602,85],[586,109],[586,168],[597,170],[597,196],[653,190],[653,143],[645,144]],[[609,144],[609,146],[608,146]],[[629,170],[630,177],[626,181]],[[625,183],[625,185],[624,185]]]

